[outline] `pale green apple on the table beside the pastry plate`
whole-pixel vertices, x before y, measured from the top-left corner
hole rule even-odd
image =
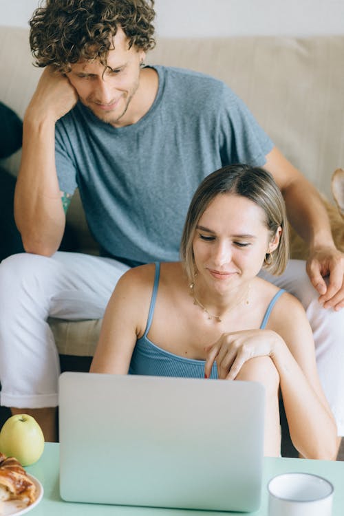
[[[0,451],[15,457],[22,466],[30,466],[41,457],[44,436],[38,422],[28,414],[16,414],[0,431]]]

